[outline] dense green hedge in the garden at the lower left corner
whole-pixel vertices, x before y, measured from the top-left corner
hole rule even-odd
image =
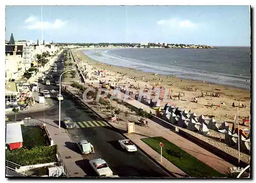
[[[20,166],[57,162],[57,146],[37,146],[32,149],[6,150],[6,160]]]

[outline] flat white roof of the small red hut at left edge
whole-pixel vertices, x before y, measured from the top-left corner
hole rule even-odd
[[[6,124],[6,138],[5,143],[17,143],[23,142],[22,138],[22,127],[20,123],[8,123]]]

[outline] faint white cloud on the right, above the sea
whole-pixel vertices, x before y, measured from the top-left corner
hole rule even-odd
[[[170,28],[174,28],[174,27],[180,27],[180,28],[196,28],[197,24],[193,23],[189,20],[181,20],[179,18],[170,18],[170,19],[162,19],[157,21],[158,25],[161,26],[167,26]]]

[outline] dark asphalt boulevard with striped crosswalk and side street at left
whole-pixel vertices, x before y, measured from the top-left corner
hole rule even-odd
[[[61,68],[58,63],[57,69],[59,67]],[[56,86],[41,86],[41,89],[52,90],[56,89]],[[88,161],[102,158],[109,164],[114,175],[119,175],[120,177],[171,177],[139,149],[137,152],[126,152],[120,148],[117,140],[124,139],[121,134],[116,132],[111,126],[103,123],[98,116],[70,94],[62,93],[62,95],[64,101],[61,102],[61,119],[71,117],[76,122],[76,128],[68,129],[71,138],[74,142],[78,142],[80,139],[86,139],[95,148],[95,154],[84,155],[83,161],[75,162],[88,176],[95,176]],[[55,98],[48,100],[52,100],[53,106],[51,108],[40,112],[23,112],[23,114],[17,114],[17,120],[23,120],[29,116],[32,118],[30,120],[31,122],[45,121],[47,123],[58,123],[58,102]],[[13,114],[7,115],[7,117],[10,120],[15,119]],[[67,142],[66,146],[79,153],[76,144],[73,142]]]

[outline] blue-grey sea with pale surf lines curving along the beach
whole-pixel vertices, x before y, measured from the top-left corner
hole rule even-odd
[[[250,47],[85,49],[102,63],[250,90]]]

